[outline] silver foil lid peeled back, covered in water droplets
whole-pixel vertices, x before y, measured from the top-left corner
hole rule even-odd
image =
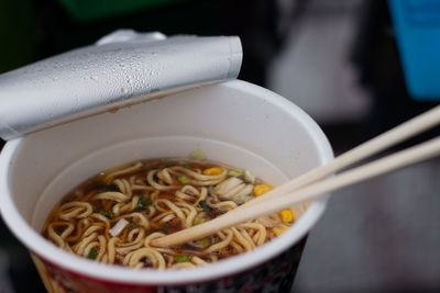
[[[0,75],[0,137],[238,77],[235,36],[172,36],[117,31],[96,45]]]

